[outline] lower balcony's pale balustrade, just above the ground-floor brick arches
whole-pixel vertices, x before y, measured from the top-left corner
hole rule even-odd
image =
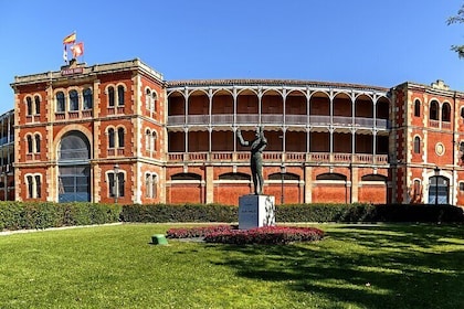
[[[250,152],[170,152],[168,162],[221,162],[236,163],[250,161]],[[388,164],[388,154],[371,153],[339,153],[339,152],[263,152],[264,162],[293,162],[293,163],[360,163]]]

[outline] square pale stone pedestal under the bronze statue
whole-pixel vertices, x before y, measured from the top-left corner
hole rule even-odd
[[[239,230],[275,225],[275,198],[247,194],[239,198]]]

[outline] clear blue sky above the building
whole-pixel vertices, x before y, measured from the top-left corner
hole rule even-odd
[[[14,76],[59,71],[76,31],[88,65],[131,60],[165,79],[289,78],[464,92],[463,0],[0,0],[0,113]]]

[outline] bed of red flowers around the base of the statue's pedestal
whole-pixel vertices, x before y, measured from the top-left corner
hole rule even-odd
[[[191,228],[170,228],[168,238],[202,237],[207,243],[221,244],[288,244],[293,242],[313,242],[324,237],[324,232],[315,227],[265,226],[251,230],[238,230],[231,225],[215,225]]]

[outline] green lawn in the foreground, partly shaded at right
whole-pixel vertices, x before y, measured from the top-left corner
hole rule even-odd
[[[167,224],[0,236],[0,308],[464,308],[463,225],[314,226],[287,246],[150,245]]]

